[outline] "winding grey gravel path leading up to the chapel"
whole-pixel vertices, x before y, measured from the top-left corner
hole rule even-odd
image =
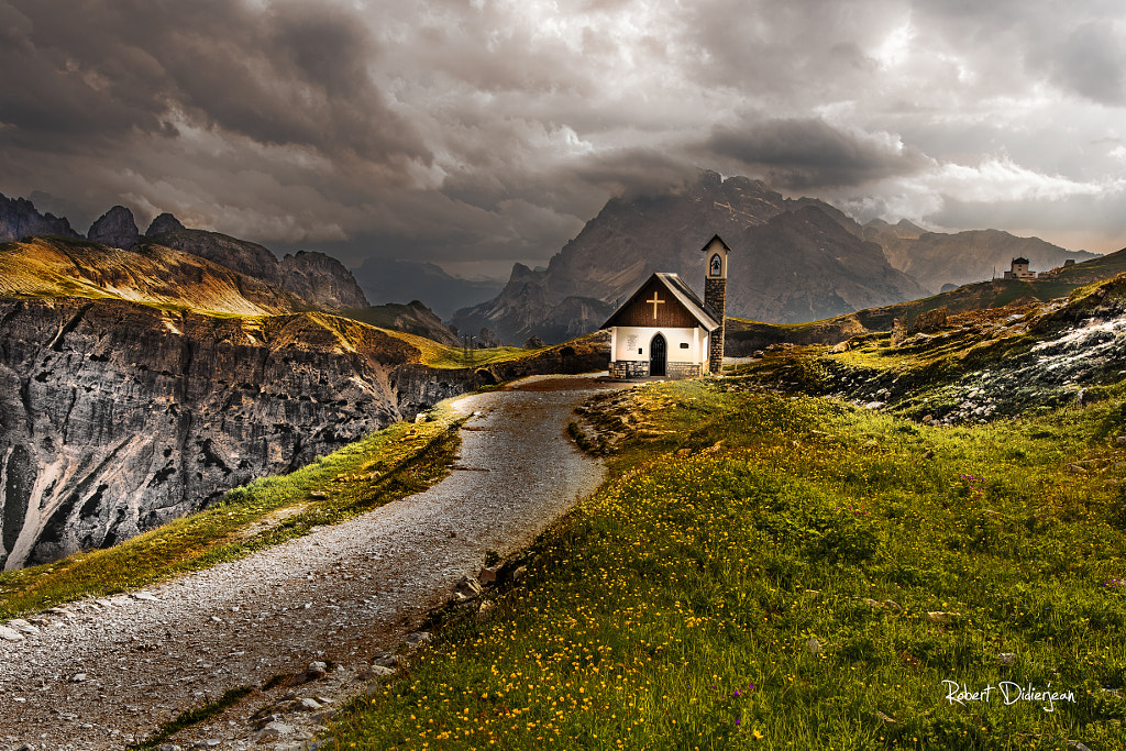
[[[256,690],[170,743],[315,748],[302,741],[320,713],[363,690],[373,656],[400,644],[463,575],[475,575],[485,551],[519,549],[598,486],[602,466],[574,449],[565,427],[574,405],[613,387],[537,378],[467,396],[455,405],[474,413],[461,458],[430,490],[140,599],[44,614],[37,634],[0,641],[0,750],[122,749],[239,687]],[[337,668],[262,690],[314,661]],[[315,697],[331,701],[292,706]],[[250,715],[267,706],[286,712],[263,734]]]

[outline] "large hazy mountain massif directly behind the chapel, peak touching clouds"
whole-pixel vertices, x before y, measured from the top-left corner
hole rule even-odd
[[[842,221],[822,202],[705,172],[682,191],[610,200],[546,271],[518,266],[498,297],[459,311],[454,323],[488,325],[508,341],[591,331],[654,271],[680,274],[701,293],[700,248],[716,233],[733,250],[729,315],[811,321],[926,294]]]

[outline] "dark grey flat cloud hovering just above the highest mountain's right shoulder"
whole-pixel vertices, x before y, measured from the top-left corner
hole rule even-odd
[[[842,131],[819,118],[717,126],[705,147],[789,190],[859,186],[915,172],[927,163],[896,140]]]

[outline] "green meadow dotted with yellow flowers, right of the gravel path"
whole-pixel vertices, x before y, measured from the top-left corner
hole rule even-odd
[[[448,625],[333,734],[343,749],[1126,748],[1121,391],[937,429],[707,383],[638,390],[656,430],[537,542],[499,615]],[[1001,681],[1064,697],[947,698]]]

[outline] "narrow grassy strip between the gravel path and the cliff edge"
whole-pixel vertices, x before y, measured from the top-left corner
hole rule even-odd
[[[456,421],[399,423],[293,474],[256,480],[217,504],[111,548],[0,573],[0,622],[88,596],[128,591],[277,545],[423,490],[446,474]]]

